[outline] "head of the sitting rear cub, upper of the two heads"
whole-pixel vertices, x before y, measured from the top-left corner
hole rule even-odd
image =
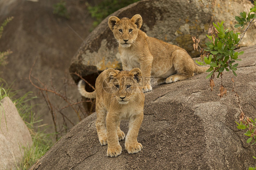
[[[138,14],[134,15],[131,19],[119,19],[116,16],[111,16],[108,19],[108,26],[122,47],[130,47],[133,43],[136,43],[138,30],[141,25],[142,17]]]

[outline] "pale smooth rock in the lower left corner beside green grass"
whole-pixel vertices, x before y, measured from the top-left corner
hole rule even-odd
[[[24,147],[32,144],[29,130],[9,97],[0,101],[0,170],[19,166]]]

